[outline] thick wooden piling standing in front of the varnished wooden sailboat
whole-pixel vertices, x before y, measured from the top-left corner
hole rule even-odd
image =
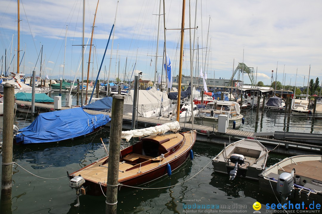
[[[109,168],[106,182],[106,214],[116,213],[118,202],[118,167],[120,160],[123,104],[124,96],[119,94],[113,95],[111,130],[109,134]]]

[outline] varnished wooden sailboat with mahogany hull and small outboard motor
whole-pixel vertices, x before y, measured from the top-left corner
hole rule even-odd
[[[190,156],[195,132],[171,133],[142,138],[121,150],[118,183],[138,186],[153,181],[180,167]],[[109,157],[102,158],[69,175],[70,186],[81,184],[89,195],[106,193]],[[84,179],[84,180],[82,180]]]

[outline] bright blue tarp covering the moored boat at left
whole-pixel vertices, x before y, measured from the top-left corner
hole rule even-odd
[[[22,144],[58,142],[91,133],[110,120],[108,115],[91,115],[81,107],[42,113],[20,129],[15,140]]]

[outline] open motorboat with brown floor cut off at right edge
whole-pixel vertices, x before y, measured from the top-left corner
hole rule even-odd
[[[288,200],[322,200],[322,156],[298,155],[285,158],[259,174],[260,189]],[[306,200],[307,199],[307,200]]]

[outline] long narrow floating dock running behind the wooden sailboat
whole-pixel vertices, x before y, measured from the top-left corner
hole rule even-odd
[[[18,106],[24,107],[25,110],[31,108],[31,102],[16,100]],[[73,106],[75,107],[75,106]],[[71,107],[62,107],[61,110],[69,109]],[[50,112],[55,111],[53,104],[35,103],[35,112]],[[108,114],[111,113],[99,112],[93,110],[86,110],[90,114]],[[145,128],[149,126],[156,126],[160,124],[169,123],[169,120],[149,118],[149,117],[137,117],[138,128]],[[123,129],[131,129],[132,123],[131,115],[123,115]],[[192,129],[192,124],[180,123],[182,130],[188,131]],[[274,133],[254,133],[248,131],[241,131],[238,129],[227,129],[226,133],[219,133],[218,130],[211,126],[194,124],[194,129],[197,130],[197,141],[206,141],[212,143],[223,144],[221,139],[229,138],[231,141],[240,139],[255,139],[264,144],[269,150],[274,149],[274,152],[288,155],[304,155],[304,154],[322,154],[322,143],[311,142],[299,142],[283,139],[274,139],[272,136]],[[309,133],[305,133],[309,134]]]

